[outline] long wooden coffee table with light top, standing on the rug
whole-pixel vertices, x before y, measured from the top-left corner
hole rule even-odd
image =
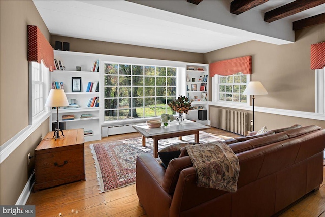
[[[168,123],[168,127],[160,126],[159,128],[148,128],[146,123],[132,125],[142,135],[142,146],[146,146],[146,138],[153,139],[153,157],[158,157],[158,140],[186,135],[195,135],[195,142],[199,142],[199,131],[210,129],[210,127],[201,125],[200,123],[185,120],[179,125],[176,121]]]

